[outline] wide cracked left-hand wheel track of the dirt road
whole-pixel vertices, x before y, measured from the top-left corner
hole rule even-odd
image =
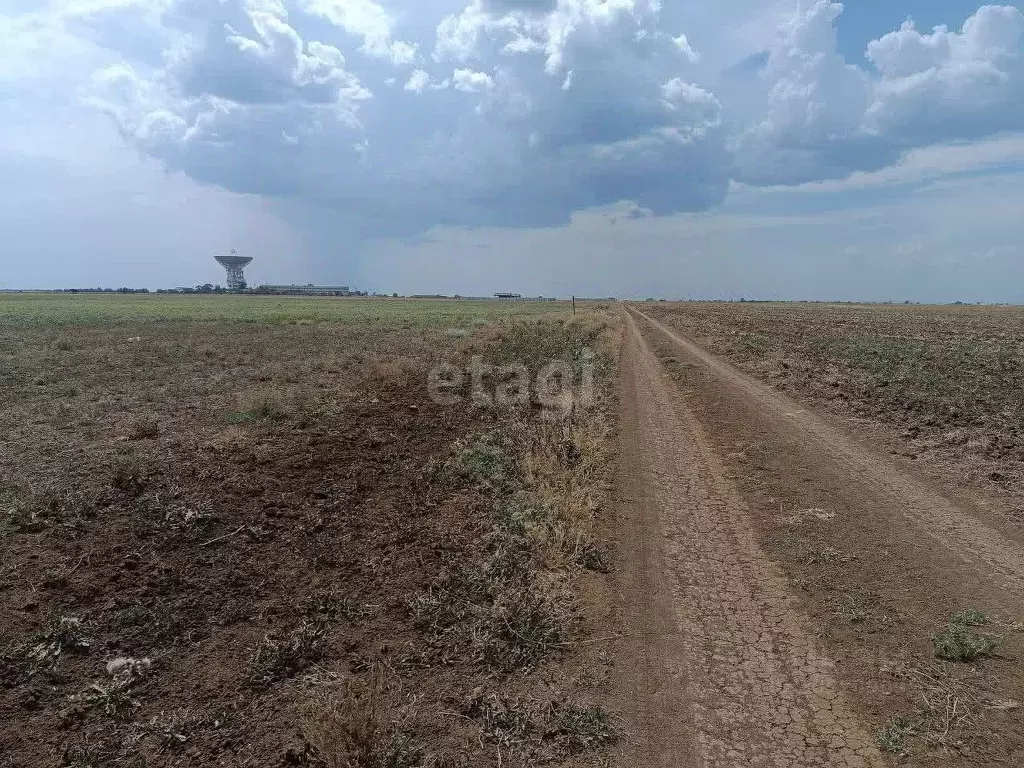
[[[626,317],[626,659],[645,766],[885,765],[784,575],[657,358]],[[624,527],[625,527],[624,525]],[[637,755],[639,758],[640,755]]]

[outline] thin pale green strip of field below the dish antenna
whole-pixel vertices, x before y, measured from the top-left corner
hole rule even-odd
[[[301,296],[0,293],[0,325],[205,321],[437,328],[477,317],[571,313],[565,302]]]

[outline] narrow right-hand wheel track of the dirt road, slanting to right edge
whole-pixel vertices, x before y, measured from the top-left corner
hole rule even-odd
[[[670,339],[681,354],[711,372],[719,386],[737,392],[767,419],[784,425],[786,432],[799,434],[820,456],[845,467],[851,479],[870,478],[873,493],[887,509],[901,515],[973,570],[986,574],[993,587],[1008,590],[1016,598],[1024,594],[1024,547],[1020,541],[986,524],[901,471],[884,455],[858,444],[811,411],[708,353],[653,317],[634,307],[629,311]]]

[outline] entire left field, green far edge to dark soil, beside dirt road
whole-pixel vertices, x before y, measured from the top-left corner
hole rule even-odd
[[[599,764],[616,322],[0,296],[4,768]],[[474,356],[595,403],[429,396]]]

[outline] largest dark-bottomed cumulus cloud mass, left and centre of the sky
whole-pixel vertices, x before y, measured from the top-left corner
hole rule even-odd
[[[449,77],[417,69],[395,91],[441,99],[425,120],[373,92],[375,71],[336,38],[304,32],[303,13],[390,39],[380,6],[233,0],[200,20],[196,7],[166,67],[103,70],[90,96],[194,178],[344,206],[367,233],[557,224],[627,198],[688,210],[727,189],[720,104],[683,77],[655,3],[471,3],[437,30],[431,69]]]

